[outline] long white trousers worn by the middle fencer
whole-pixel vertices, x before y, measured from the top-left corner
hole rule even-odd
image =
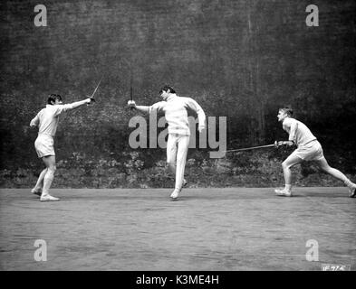
[[[176,186],[180,190],[183,185],[184,169],[187,162],[189,135],[168,134],[167,163],[175,164]]]

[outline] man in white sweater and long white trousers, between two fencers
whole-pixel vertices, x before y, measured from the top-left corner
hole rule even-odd
[[[165,113],[168,122],[167,163],[170,171],[176,175],[175,189],[170,197],[172,200],[176,200],[182,187],[186,184],[184,170],[190,135],[187,109],[191,108],[197,113],[199,133],[205,128],[206,115],[197,101],[192,98],[178,97],[176,91],[170,86],[164,86],[160,89],[159,95],[163,101],[159,101],[150,107],[136,106],[134,101],[129,102],[129,107],[137,108],[142,112],[156,113],[163,111]]]

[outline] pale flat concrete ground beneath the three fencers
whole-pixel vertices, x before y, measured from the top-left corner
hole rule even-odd
[[[265,188],[169,193],[53,189],[62,200],[40,202],[1,189],[0,269],[356,269],[356,199],[346,188],[296,188],[293,198]],[[45,246],[34,247],[38,239]],[[35,261],[45,247],[46,261]]]

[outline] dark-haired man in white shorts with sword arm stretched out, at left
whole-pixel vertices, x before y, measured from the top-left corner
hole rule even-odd
[[[46,168],[40,173],[34,189],[31,191],[41,196],[40,200],[60,200],[49,194],[49,190],[54,178],[55,154],[53,148],[53,137],[57,130],[59,116],[67,110],[81,107],[82,105],[91,103],[91,98],[86,98],[82,101],[73,102],[71,104],[62,104],[60,95],[51,94],[47,100],[47,105],[31,120],[30,126],[38,126],[38,136],[34,142],[34,148],[39,158],[42,158]],[[42,188],[43,184],[43,188]]]

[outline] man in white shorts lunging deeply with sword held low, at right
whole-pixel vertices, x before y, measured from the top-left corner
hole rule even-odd
[[[351,182],[342,172],[332,168],[322,153],[322,145],[317,141],[307,126],[293,116],[291,107],[282,107],[278,112],[278,121],[282,122],[284,130],[289,134],[287,145],[297,145],[297,149],[282,163],[284,170],[285,187],[283,190],[274,190],[278,196],[292,196],[291,168],[303,161],[314,161],[323,172],[331,174],[341,180],[349,188],[350,197],[355,197],[356,184]]]

